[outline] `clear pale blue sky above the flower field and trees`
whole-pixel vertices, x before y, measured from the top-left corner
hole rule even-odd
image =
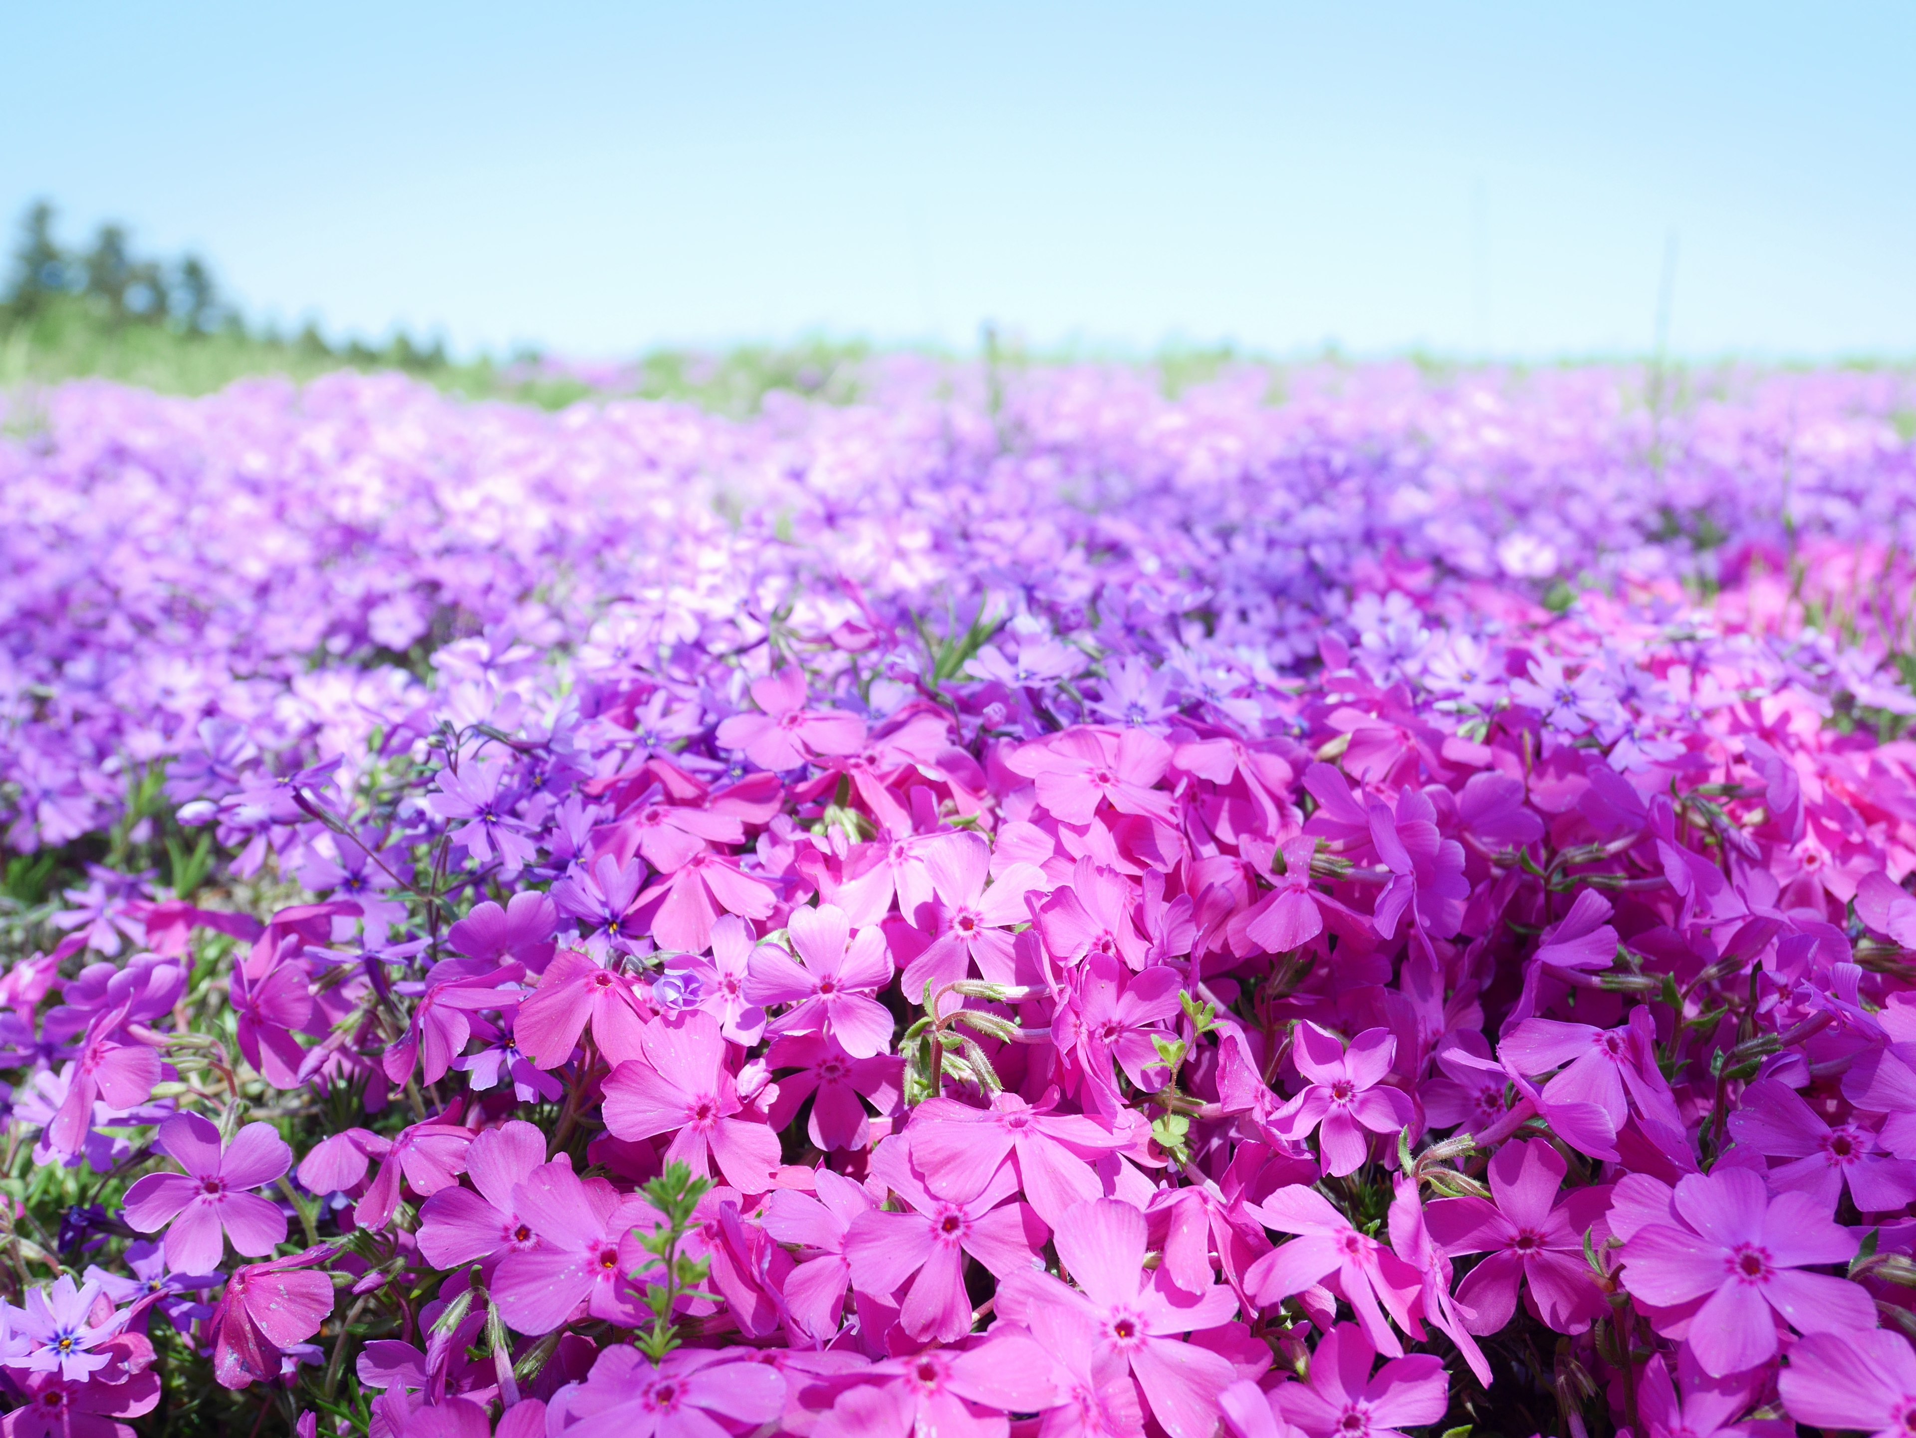
[[[581,356],[1916,354],[1916,4],[27,4],[0,211]],[[1669,257],[1675,264],[1669,266]]]

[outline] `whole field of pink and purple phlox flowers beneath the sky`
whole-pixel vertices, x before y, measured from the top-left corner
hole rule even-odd
[[[1916,1425],[1916,377],[0,396],[0,1434]]]

